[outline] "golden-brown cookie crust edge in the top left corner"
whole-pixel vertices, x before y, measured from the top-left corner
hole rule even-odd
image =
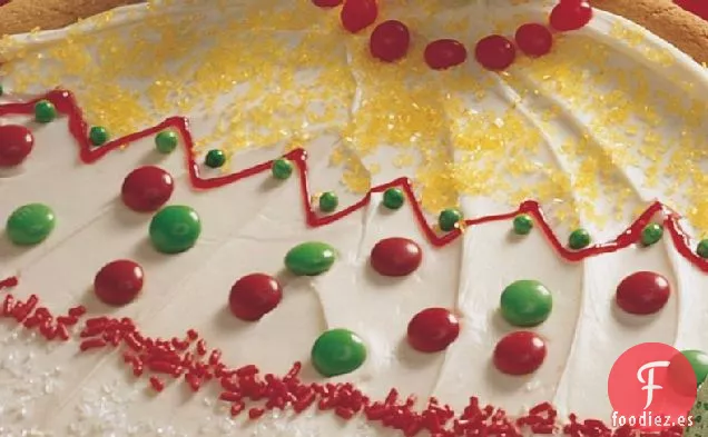
[[[0,37],[60,29],[79,19],[140,0],[11,0],[0,7]]]

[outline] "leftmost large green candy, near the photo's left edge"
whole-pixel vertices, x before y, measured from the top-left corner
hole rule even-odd
[[[42,242],[55,229],[53,211],[43,203],[24,205],[16,209],[6,225],[10,241],[18,246]]]

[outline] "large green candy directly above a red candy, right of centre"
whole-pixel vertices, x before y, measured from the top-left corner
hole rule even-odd
[[[538,280],[510,284],[501,295],[501,314],[513,326],[530,327],[545,321],[553,308],[551,291]]]

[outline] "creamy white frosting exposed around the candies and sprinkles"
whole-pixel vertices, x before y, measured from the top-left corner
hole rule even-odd
[[[237,13],[240,2],[234,3]],[[454,13],[479,17],[488,11],[485,8],[491,7],[476,2]],[[174,8],[175,13],[203,9]],[[144,10],[142,6],[125,8],[112,22],[129,28]],[[519,12],[538,17],[544,10],[518,7]],[[645,44],[666,51],[675,62],[658,69],[638,49],[609,37],[616,23],[640,31]],[[90,22],[79,26],[90,31]],[[686,56],[620,18],[597,12],[591,24],[578,33],[610,46],[621,62],[640,68],[652,83],[676,87],[668,78],[680,75],[698,89],[708,89],[705,71]],[[42,32],[17,40],[28,47],[50,43],[65,34]],[[471,71],[476,68],[470,67]],[[6,88],[11,89],[12,81],[13,77],[3,79]],[[530,78],[522,77],[522,81],[535,87]],[[496,91],[489,98],[490,106],[515,99],[519,92],[501,79]],[[16,98],[10,95],[3,99]],[[544,153],[561,168],[576,166],[566,161],[560,145],[563,136],[578,135],[573,129],[587,125],[582,113],[548,93],[522,99],[518,109],[541,127],[540,108],[551,102],[560,106],[563,117],[558,120],[564,120],[564,125],[557,126],[557,132],[544,131]],[[352,111],[357,107],[355,101]],[[673,129],[670,109],[657,111],[667,120],[661,129]],[[214,122],[205,113],[186,116],[193,119],[196,135]],[[181,149],[168,157],[158,156],[148,138],[97,163],[83,165],[77,159],[77,147],[63,119],[38,126],[28,117],[0,118],[0,125],[4,123],[30,126],[36,148],[21,171],[0,175],[0,218],[4,220],[18,206],[45,202],[55,210],[58,226],[47,241],[32,248],[17,248],[1,238],[0,277],[18,275],[20,285],[12,290],[14,295],[38,294],[43,305],[57,311],[78,304],[86,305],[90,314],[109,311],[92,296],[94,276],[105,264],[129,258],[144,267],[146,287],[136,302],[111,314],[134,318],[153,336],[181,336],[187,328],[195,328],[210,346],[219,347],[224,361],[233,366],[253,362],[265,373],[284,374],[293,361],[301,360],[305,364],[304,378],[319,380],[308,360],[312,344],[324,329],[346,327],[364,339],[368,357],[362,368],[335,380],[354,381],[373,398],[381,399],[396,387],[404,395],[416,394],[420,398],[434,395],[460,410],[470,396],[479,396],[483,403],[512,414],[550,400],[562,414],[604,420],[611,410],[607,375],[626,349],[642,341],[708,349],[708,331],[700,328],[708,314],[704,296],[708,278],[678,255],[668,238],[650,249],[632,247],[570,264],[553,251],[540,231],[512,240],[510,224],[500,221],[470,228],[454,244],[437,249],[420,232],[409,208],[382,213],[378,195],[372,197],[368,207],[347,218],[311,229],[304,222],[295,178],[273,183],[268,175],[262,175],[197,192],[189,187]],[[313,139],[307,150],[313,191],[331,189],[340,175],[330,168],[326,156],[341,138],[319,128],[311,130]],[[590,140],[602,147],[607,141],[603,132],[596,133]],[[381,160],[385,153],[384,149],[366,159]],[[458,153],[455,159],[464,158],[464,152]],[[235,166],[243,168],[275,155],[274,149],[249,150],[237,157]],[[157,254],[147,239],[150,216],[131,212],[119,200],[124,177],[145,163],[170,171],[176,180],[170,203],[191,206],[201,217],[203,235],[185,254]],[[635,190],[629,203],[642,205],[657,196],[656,189],[642,187],[641,171],[621,171]],[[573,171],[569,169],[569,173]],[[384,168],[372,176],[372,183],[396,176],[400,171]],[[344,197],[343,202],[348,199]],[[465,217],[500,210],[496,201],[472,197],[463,197],[461,206]],[[626,225],[593,229],[593,236],[598,240],[609,238]],[[592,228],[591,224],[587,226]],[[421,268],[407,278],[387,280],[368,267],[371,248],[391,236],[412,238],[423,248]],[[235,319],[226,306],[234,281],[254,271],[281,274],[285,252],[305,240],[326,241],[337,249],[333,269],[315,278],[287,277],[284,299],[272,314],[254,324]],[[617,285],[637,270],[660,272],[671,282],[673,294],[656,316],[628,317],[614,307]],[[503,287],[527,278],[540,280],[553,292],[551,317],[535,329],[548,341],[548,357],[533,375],[512,378],[500,375],[490,361],[496,341],[512,330],[496,308]],[[405,341],[409,320],[427,307],[453,308],[460,315],[460,337],[445,352],[422,355]],[[274,411],[273,417],[266,415],[255,424],[244,424],[243,418],[230,419],[226,406],[217,403],[210,390],[191,395],[181,385],[170,385],[153,399],[142,390],[146,378],[127,376],[118,354],[77,355],[73,340],[48,348],[43,340],[19,332],[11,322],[0,321],[0,436],[394,435],[358,419],[344,424],[331,414],[313,411],[298,417]]]

